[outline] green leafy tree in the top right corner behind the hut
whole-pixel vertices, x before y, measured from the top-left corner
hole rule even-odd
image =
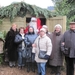
[[[55,11],[58,16],[67,16],[67,28],[69,22],[75,21],[75,0],[52,0],[55,3]]]

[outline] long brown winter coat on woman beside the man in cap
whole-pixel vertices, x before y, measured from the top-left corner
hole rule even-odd
[[[52,41],[52,54],[49,59],[49,65],[51,66],[62,66],[63,65],[63,55],[61,52],[61,38],[62,34],[56,35],[55,32],[50,34]]]

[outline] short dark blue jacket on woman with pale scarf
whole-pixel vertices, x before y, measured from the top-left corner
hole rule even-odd
[[[25,36],[25,35],[24,35]],[[21,34],[17,34],[15,36],[15,43],[18,45],[17,50],[18,51],[22,51],[22,42],[24,41],[24,39],[22,39]],[[25,44],[25,41],[24,41]]]

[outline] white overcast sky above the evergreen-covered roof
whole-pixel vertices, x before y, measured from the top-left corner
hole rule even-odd
[[[12,2],[21,2],[21,1],[24,1],[31,5],[39,6],[41,8],[47,8],[48,6],[54,5],[51,0],[0,0],[0,6],[8,6]]]

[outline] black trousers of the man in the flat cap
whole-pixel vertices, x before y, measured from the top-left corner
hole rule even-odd
[[[66,75],[74,75],[74,58],[65,57]]]

